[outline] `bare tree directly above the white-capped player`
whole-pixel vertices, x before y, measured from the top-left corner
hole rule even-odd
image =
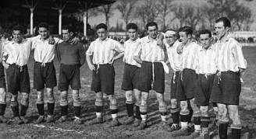
[[[158,10],[162,22],[162,30],[166,29],[166,18],[172,11],[172,2],[173,0],[158,0],[156,9]],[[174,19],[175,18],[170,19],[170,22],[172,22]]]

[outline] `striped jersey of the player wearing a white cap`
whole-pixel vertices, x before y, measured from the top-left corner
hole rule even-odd
[[[169,63],[173,71],[181,71],[182,70],[182,54],[177,53],[177,47],[180,45],[180,42],[176,40],[172,46],[165,43],[167,55],[169,58]]]

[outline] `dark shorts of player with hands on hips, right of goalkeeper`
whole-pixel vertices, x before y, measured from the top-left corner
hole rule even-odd
[[[115,68],[112,64],[94,65],[92,73],[91,91],[103,92],[106,95],[114,95]]]

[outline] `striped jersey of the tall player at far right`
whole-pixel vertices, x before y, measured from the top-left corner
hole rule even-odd
[[[239,71],[239,68],[247,68],[242,46],[232,37],[215,43],[215,64],[219,71]]]

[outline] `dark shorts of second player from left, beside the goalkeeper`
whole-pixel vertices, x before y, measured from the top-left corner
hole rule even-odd
[[[42,65],[40,62],[34,63],[34,89],[41,90],[54,88],[57,85],[56,71],[53,62]]]

